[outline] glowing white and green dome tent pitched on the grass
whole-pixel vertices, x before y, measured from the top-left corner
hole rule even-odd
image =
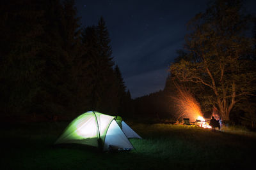
[[[104,115],[97,111],[88,111],[74,119],[58,143],[79,143],[96,146],[102,150],[115,148],[133,148],[128,138],[141,138],[120,117]]]

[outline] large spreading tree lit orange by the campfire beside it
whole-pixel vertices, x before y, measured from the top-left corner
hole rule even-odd
[[[241,1],[215,1],[189,22],[185,57],[170,66],[176,80],[205,87],[226,121],[234,106],[255,91],[253,39],[246,36],[249,20]]]

